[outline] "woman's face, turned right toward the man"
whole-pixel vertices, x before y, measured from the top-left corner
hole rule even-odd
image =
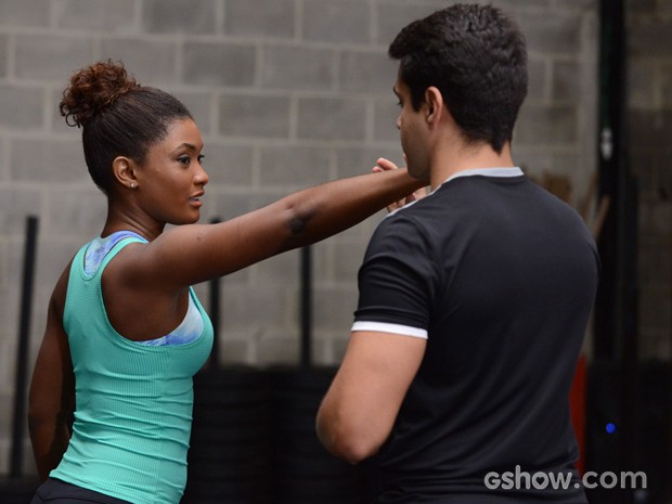
[[[138,170],[138,190],[144,211],[158,222],[194,223],[201,217],[204,186],[203,139],[189,118],[176,120],[166,138],[150,147]]]

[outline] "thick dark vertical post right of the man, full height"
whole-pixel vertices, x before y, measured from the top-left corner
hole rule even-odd
[[[625,69],[626,30],[624,0],[600,0],[599,36],[599,196],[608,197],[609,211],[598,237],[602,259],[600,285],[595,301],[594,361],[616,374],[609,389],[613,395],[609,418],[612,435],[592,432],[602,444],[589,453],[589,470],[632,470],[637,412],[637,327],[636,327],[636,249],[637,191],[626,156]],[[613,388],[617,389],[613,392]],[[597,398],[597,396],[595,397]],[[594,398],[594,399],[595,399]],[[589,436],[591,432],[589,432]],[[609,455],[613,455],[613,457]],[[592,465],[592,464],[596,464]],[[595,491],[591,502],[630,504],[629,489]]]

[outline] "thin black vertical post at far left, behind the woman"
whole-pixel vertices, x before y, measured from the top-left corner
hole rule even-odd
[[[21,476],[23,465],[23,441],[26,430],[26,375],[28,370],[28,343],[30,338],[30,313],[33,308],[35,258],[37,256],[37,217],[28,216],[26,219],[21,313],[18,320],[18,347],[16,350],[14,418],[12,426],[12,450],[10,460],[10,476],[12,478],[18,478]]]

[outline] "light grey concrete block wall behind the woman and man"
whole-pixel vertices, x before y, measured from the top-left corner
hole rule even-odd
[[[7,404],[0,474],[7,470],[25,218],[40,218],[33,362],[53,284],[105,217],[79,132],[57,112],[70,74],[101,59],[120,60],[142,83],[183,100],[206,143],[203,220],[229,219],[296,189],[367,172],[378,156],[400,161],[391,93],[397,65],[387,46],[403,25],[449,3],[0,2],[0,401]],[[515,157],[535,177],[567,177],[578,205],[596,166],[597,0],[496,3],[529,41],[530,93]],[[357,269],[383,215],[313,247],[316,364],[336,364],[343,356]],[[223,280],[225,364],[298,361],[298,273],[293,251]],[[196,288],[207,307],[206,286]]]

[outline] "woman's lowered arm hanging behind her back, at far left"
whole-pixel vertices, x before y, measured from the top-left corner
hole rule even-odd
[[[59,280],[49,302],[47,328],[33,372],[28,399],[28,429],[39,476],[47,479],[69,441],[67,421],[75,408],[75,377],[63,306],[69,266]]]

